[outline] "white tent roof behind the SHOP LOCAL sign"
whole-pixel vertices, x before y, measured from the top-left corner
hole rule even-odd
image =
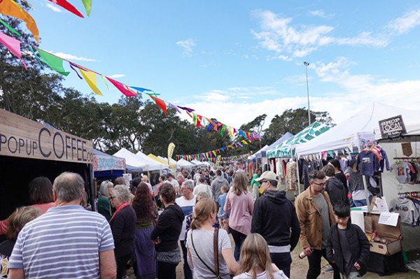
[[[374,129],[379,126],[379,120],[402,115],[402,119],[418,117],[418,112],[386,106],[382,103],[370,103],[348,120],[331,128],[327,133],[318,136],[313,141],[297,146],[297,155],[310,155],[330,150],[358,148],[358,136],[374,140]]]

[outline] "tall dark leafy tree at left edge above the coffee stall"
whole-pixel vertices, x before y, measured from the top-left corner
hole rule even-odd
[[[22,2],[23,8],[28,8]],[[18,31],[21,36],[9,31],[0,24],[0,31],[20,41],[35,45],[34,37],[22,29],[21,21],[6,15],[1,20]],[[17,113],[32,120],[41,120],[51,107],[59,101],[62,90],[62,77],[52,73],[41,73],[42,67],[26,45],[22,45],[22,59],[15,57],[4,45],[0,44],[0,108]]]

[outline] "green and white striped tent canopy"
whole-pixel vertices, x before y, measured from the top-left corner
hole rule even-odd
[[[291,157],[295,155],[296,145],[307,143],[329,129],[330,127],[325,126],[325,124],[314,122],[287,141],[283,141],[276,147],[267,150],[267,157]]]

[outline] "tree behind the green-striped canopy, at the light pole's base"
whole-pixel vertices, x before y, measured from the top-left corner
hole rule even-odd
[[[326,111],[318,112],[311,110],[310,115],[311,123],[320,122],[330,127],[335,126],[335,124],[332,123],[330,114]],[[268,129],[265,129],[262,145],[274,143],[274,141],[287,132],[295,135],[308,126],[308,111],[305,108],[284,110],[280,116],[275,115],[269,124]]]

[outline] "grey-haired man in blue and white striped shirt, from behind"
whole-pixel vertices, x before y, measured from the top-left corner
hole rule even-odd
[[[111,228],[105,217],[79,205],[83,186],[78,173],[55,178],[56,207],[20,231],[8,278],[116,278]]]

